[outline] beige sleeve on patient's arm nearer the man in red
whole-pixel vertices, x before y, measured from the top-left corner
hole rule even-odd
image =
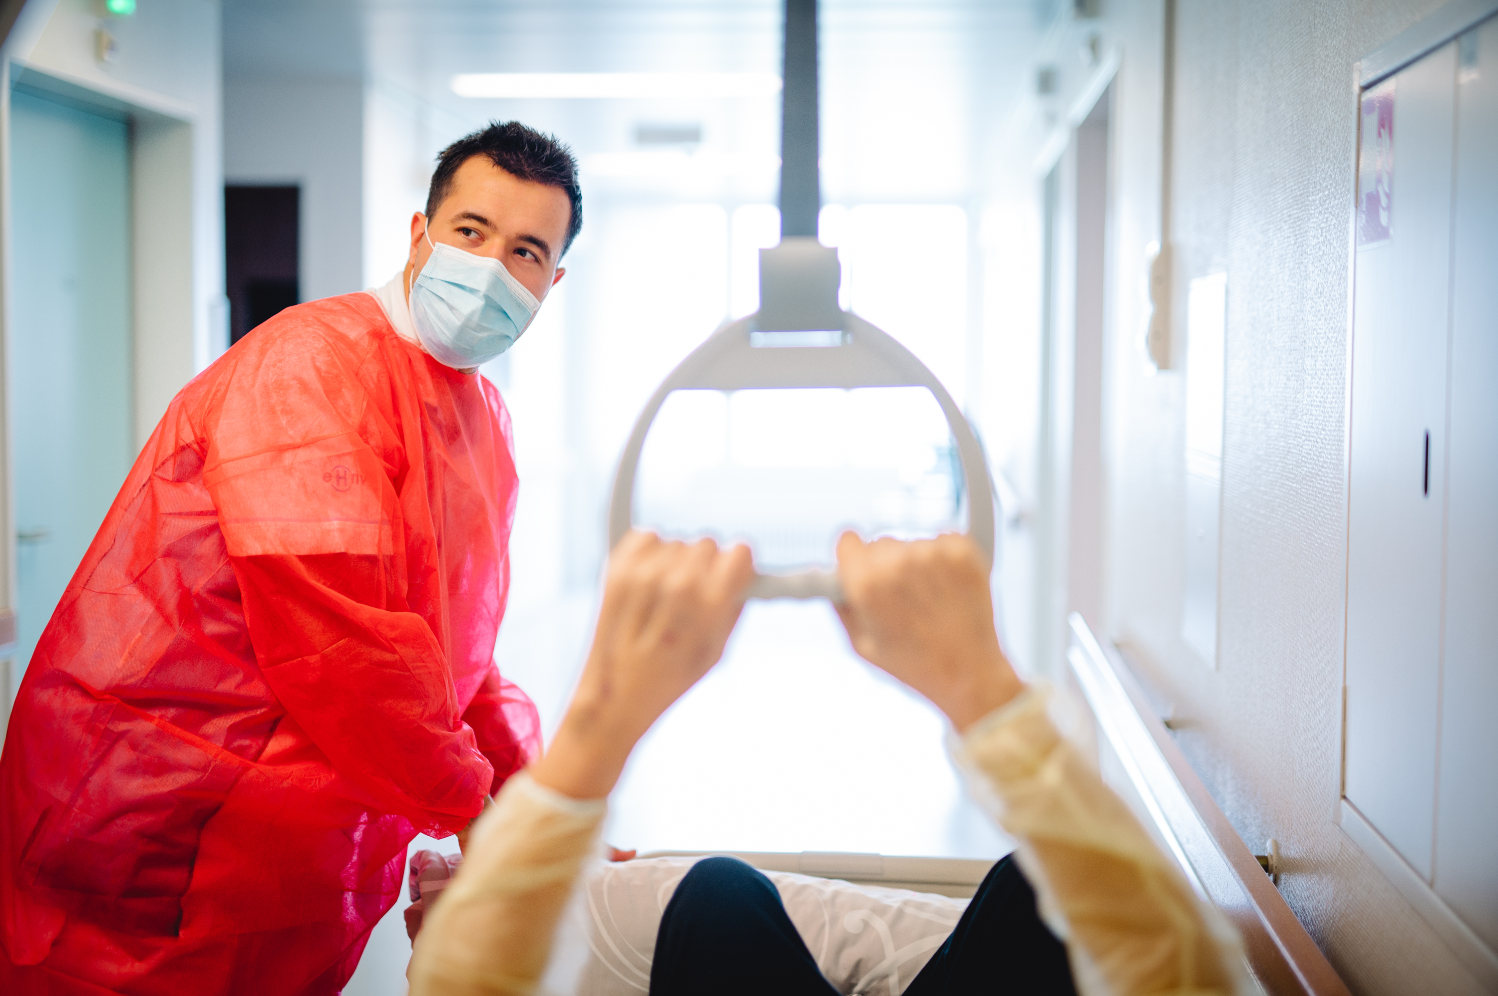
[[[416,935],[410,996],[533,992],[605,812],[604,800],[568,798],[529,771],[505,782]]]

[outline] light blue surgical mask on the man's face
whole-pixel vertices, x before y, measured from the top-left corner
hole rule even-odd
[[[536,316],[541,301],[505,264],[431,244],[427,265],[410,286],[410,324],[437,362],[467,370],[509,349]]]

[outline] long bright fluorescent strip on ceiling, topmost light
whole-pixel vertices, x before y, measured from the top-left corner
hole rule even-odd
[[[661,99],[762,97],[780,93],[764,72],[479,72],[452,78],[460,97]]]

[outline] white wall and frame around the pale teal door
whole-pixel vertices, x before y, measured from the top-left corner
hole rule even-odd
[[[129,18],[100,18],[94,0],[31,0],[3,48],[0,72],[0,244],[9,237],[9,81],[124,111],[132,117],[135,437],[145,440],[177,391],[226,344],[217,0],[151,0]],[[96,31],[115,42],[96,57]],[[0,297],[9,279],[0,270]],[[0,322],[7,312],[0,306]],[[0,327],[3,328],[3,327]],[[0,379],[3,383],[3,379]],[[3,389],[3,388],[0,388]],[[0,410],[4,406],[0,404]],[[0,488],[0,607],[13,604],[9,427]],[[6,680],[7,683],[7,680]],[[9,701],[9,695],[4,696]]]

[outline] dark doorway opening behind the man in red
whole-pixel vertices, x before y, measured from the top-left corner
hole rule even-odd
[[[301,300],[297,283],[300,201],[298,187],[223,189],[231,346]]]

